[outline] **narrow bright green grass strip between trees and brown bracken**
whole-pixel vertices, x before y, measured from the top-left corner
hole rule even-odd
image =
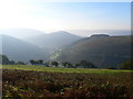
[[[0,66],[1,67],[1,66]],[[133,70],[120,69],[92,69],[92,68],[55,68],[34,65],[2,65],[2,69],[22,69],[37,72],[59,72],[59,73],[89,73],[89,74],[110,74],[110,73],[130,73]]]

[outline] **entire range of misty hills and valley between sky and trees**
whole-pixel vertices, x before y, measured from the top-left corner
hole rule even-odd
[[[40,33],[38,36],[24,40],[9,35],[1,36],[1,54],[16,62],[29,63],[30,59],[42,59],[43,62],[57,61],[75,64],[84,59],[99,68],[105,68],[106,66],[117,67],[132,56],[132,35],[94,34],[90,37],[81,37],[59,31],[51,34]]]

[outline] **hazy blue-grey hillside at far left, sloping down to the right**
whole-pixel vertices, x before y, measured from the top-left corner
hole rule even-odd
[[[7,55],[10,59],[29,62],[29,59],[44,59],[47,52],[34,44],[18,40],[8,35],[0,35],[2,37],[1,54]],[[2,51],[1,51],[2,50]]]

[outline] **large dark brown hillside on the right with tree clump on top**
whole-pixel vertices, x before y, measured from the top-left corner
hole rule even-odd
[[[133,43],[133,42],[132,42]],[[91,36],[81,38],[52,54],[61,62],[92,62],[98,67],[117,66],[131,56],[131,36]]]

